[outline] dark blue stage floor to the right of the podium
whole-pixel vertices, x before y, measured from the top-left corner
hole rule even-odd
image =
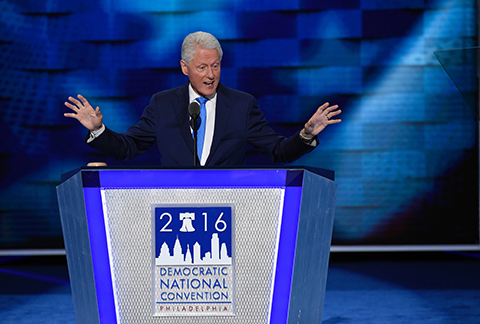
[[[322,323],[480,323],[480,259],[467,255],[333,254]]]

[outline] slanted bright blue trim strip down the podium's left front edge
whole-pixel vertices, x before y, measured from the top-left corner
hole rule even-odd
[[[117,323],[100,189],[84,188],[83,192],[100,323]]]

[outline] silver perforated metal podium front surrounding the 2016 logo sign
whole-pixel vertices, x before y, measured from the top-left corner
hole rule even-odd
[[[267,323],[281,188],[102,190],[118,323]],[[152,204],[235,206],[234,316],[153,316]]]

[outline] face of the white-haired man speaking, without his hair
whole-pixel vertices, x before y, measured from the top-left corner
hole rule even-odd
[[[184,60],[180,61],[180,65],[199,96],[215,93],[220,82],[220,56],[217,50],[198,48],[188,65]]]

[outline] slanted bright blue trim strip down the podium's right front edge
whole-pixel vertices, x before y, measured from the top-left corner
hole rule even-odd
[[[270,323],[287,323],[301,199],[301,187],[285,188]]]

